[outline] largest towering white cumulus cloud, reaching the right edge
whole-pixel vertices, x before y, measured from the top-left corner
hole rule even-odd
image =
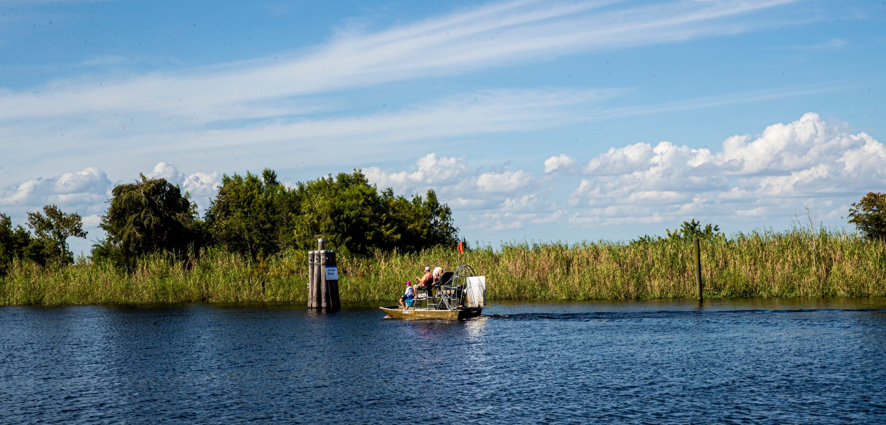
[[[808,112],[758,135],[728,137],[719,151],[669,142],[613,147],[591,158],[583,172],[569,200],[586,209],[573,223],[773,217],[801,204],[835,216],[828,205],[845,205],[886,184],[886,147]]]

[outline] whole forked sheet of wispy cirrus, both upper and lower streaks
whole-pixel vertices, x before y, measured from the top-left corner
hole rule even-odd
[[[584,113],[588,104],[602,110],[599,98],[618,96],[617,90],[487,89],[359,114],[340,109],[330,96],[582,51],[754,31],[767,27],[765,11],[793,1],[513,1],[376,32],[340,31],[297,54],[0,88],[0,139],[12,147],[8,161],[15,161],[5,166],[51,169],[74,158],[86,165],[95,164],[88,158],[156,153],[159,159],[249,144],[255,152],[279,154],[310,151],[318,142],[343,149],[374,143],[375,152],[393,149],[392,143],[552,127],[587,119],[593,115]],[[119,60],[94,59],[89,64]],[[569,103],[580,107],[566,112]],[[177,160],[196,166],[200,158]]]

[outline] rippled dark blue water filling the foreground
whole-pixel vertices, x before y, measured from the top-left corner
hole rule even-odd
[[[884,422],[886,299],[0,308],[0,422]]]

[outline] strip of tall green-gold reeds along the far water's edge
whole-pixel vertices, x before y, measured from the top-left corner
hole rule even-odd
[[[470,264],[492,299],[691,298],[691,243],[516,243],[462,254],[431,249],[339,256],[342,301],[399,298],[424,266]],[[307,255],[254,261],[206,251],[184,262],[162,255],[131,273],[79,259],[61,269],[15,263],[0,279],[0,305],[305,301]],[[702,244],[704,295],[726,297],[886,296],[886,243],[821,230],[750,233]]]

